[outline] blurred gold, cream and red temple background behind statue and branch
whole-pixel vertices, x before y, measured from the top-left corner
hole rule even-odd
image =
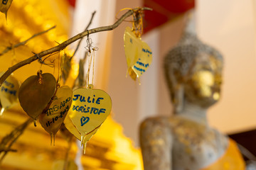
[[[144,13],[142,40],[153,52],[153,62],[138,81],[127,74],[124,55],[124,29],[132,23],[123,22],[114,30],[90,35],[95,53],[95,89],[103,89],[112,98],[112,113],[87,143],[86,154],[80,154],[79,142],[73,141],[69,152],[78,169],[142,169],[139,151],[139,123],[155,115],[171,115],[171,98],[164,79],[163,60],[176,45],[186,23],[186,11],[196,10],[198,37],[217,48],[224,56],[223,88],[220,101],[208,111],[214,128],[224,132],[256,154],[256,48],[255,0],[14,0],[7,20],[0,13],[0,52],[10,45],[52,26],[55,29],[33,38],[26,45],[0,57],[1,72],[11,65],[58,45],[81,33],[95,17],[90,28],[110,26],[125,11],[122,8],[148,6]],[[117,18],[115,18],[117,14]],[[128,20],[131,20],[129,18]],[[73,53],[78,42],[67,47]],[[72,62],[70,77],[65,83],[73,86],[78,76],[78,61],[85,55],[86,40]],[[53,60],[54,55],[48,60]],[[58,77],[57,67],[28,64],[14,72],[21,83],[39,69]],[[86,66],[85,66],[86,70]],[[18,104],[0,118],[0,137],[9,134],[28,116]],[[68,150],[68,142],[58,133],[55,147],[50,135],[39,125],[30,125],[16,141],[1,164],[1,169],[58,169]],[[58,168],[57,168],[58,167]],[[60,168],[61,169],[61,168]]]

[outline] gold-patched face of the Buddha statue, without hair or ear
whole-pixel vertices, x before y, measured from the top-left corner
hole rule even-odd
[[[221,62],[204,52],[194,58],[184,79],[184,95],[188,101],[208,108],[220,98]]]

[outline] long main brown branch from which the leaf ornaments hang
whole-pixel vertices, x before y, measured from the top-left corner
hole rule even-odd
[[[114,28],[117,28],[117,26],[120,25],[120,23],[122,23],[122,21],[124,21],[125,18],[131,16],[133,13],[136,13],[139,10],[152,10],[151,8],[134,8],[132,10],[127,11],[127,13],[124,13],[123,16],[121,16],[121,18],[119,18],[112,26],[103,26],[103,27],[99,27],[99,28],[94,28],[91,30],[86,30],[82,33],[79,33],[78,35],[75,35],[73,38],[70,38],[68,40],[66,40],[65,42],[61,43],[60,45],[57,45],[55,47],[52,47],[48,50],[45,50],[43,52],[39,52],[36,55],[33,55],[32,57],[28,58],[27,60],[23,60],[21,62],[18,62],[17,64],[15,64],[12,67],[9,67],[9,69],[1,76],[0,78],[0,86],[3,84],[3,82],[5,81],[5,79],[7,77],[9,77],[9,75],[14,72],[16,69],[23,67],[26,64],[30,64],[31,62],[38,60],[38,58],[44,57],[46,55],[50,55],[53,52],[57,52],[60,50],[63,50],[65,47],[67,47],[68,45],[70,45],[71,43],[75,42],[76,40],[79,40],[83,37],[85,37],[88,34],[92,34],[92,33],[98,33],[98,32],[102,32],[102,31],[106,31],[106,30],[113,30]]]

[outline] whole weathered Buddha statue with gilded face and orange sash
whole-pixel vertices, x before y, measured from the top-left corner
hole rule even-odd
[[[235,142],[208,125],[206,112],[220,99],[223,57],[198,40],[193,24],[164,60],[174,114],[140,126],[144,169],[245,169]]]

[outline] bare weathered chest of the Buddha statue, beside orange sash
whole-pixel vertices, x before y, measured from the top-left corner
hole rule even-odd
[[[169,122],[174,136],[174,170],[203,169],[218,161],[228,147],[228,138],[206,125],[177,117]]]

